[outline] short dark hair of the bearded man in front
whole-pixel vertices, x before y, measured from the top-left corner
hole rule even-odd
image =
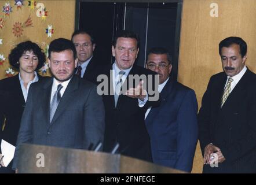
[[[75,45],[71,40],[64,39],[64,38],[55,39],[50,43],[48,56],[50,58],[50,54],[52,52],[60,53],[61,51],[65,51],[65,50],[73,51],[74,59],[76,58]]]

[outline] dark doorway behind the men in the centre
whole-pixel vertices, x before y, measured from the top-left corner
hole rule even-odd
[[[77,1],[76,29],[90,29],[96,40],[94,56],[102,63],[113,62],[112,40],[121,29],[140,36],[137,64],[145,66],[151,47],[166,47],[173,56],[171,76],[177,80],[178,47],[180,45],[181,2],[114,3]]]

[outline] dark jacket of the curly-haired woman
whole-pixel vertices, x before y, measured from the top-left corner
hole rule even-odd
[[[38,74],[38,79],[42,80]],[[25,107],[25,99],[20,86],[19,75],[0,80],[0,146],[1,141],[16,146],[20,129],[21,116]],[[2,131],[5,120],[5,129]],[[1,147],[0,147],[0,153]],[[12,173],[12,162],[6,168],[1,168],[0,173]]]

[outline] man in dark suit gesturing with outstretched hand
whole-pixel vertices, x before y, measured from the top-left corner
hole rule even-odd
[[[131,31],[120,31],[112,46],[112,55],[115,57],[114,64],[100,68],[103,69],[100,74],[107,76],[108,84],[107,87],[104,87],[108,89],[108,92],[103,94],[106,114],[104,151],[111,151],[115,144],[119,143],[120,154],[152,161],[150,139],[145,127],[144,115],[149,106],[159,105],[159,98],[156,98],[157,101],[150,101],[151,94],[146,93],[145,88],[142,89],[142,82],[126,88],[127,91],[123,90],[125,85],[131,82],[129,81],[130,76],[145,75],[147,78],[149,75],[156,74],[134,65],[138,51],[137,35]],[[98,79],[100,78],[98,77]],[[152,85],[152,82],[149,81],[147,80],[147,83],[144,82],[143,85]],[[121,86],[124,93],[118,96],[119,84],[123,85]],[[111,88],[114,88],[115,93],[110,92]]]

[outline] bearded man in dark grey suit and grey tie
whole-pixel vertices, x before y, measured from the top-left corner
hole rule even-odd
[[[30,87],[13,168],[21,143],[88,149],[91,143],[103,142],[103,101],[93,83],[73,75],[77,61],[71,40],[50,43],[48,62],[53,77]]]

